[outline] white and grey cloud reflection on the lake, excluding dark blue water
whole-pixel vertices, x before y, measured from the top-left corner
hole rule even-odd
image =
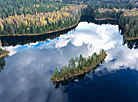
[[[60,69],[72,57],[80,54],[88,57],[103,48],[108,56],[97,71],[104,68],[108,71],[119,70],[120,66],[137,68],[137,50],[130,50],[122,43],[118,26],[81,22],[72,33],[48,43],[8,47],[15,53],[6,58],[5,71],[0,74],[0,99],[3,102],[19,99],[20,102],[67,101],[62,88],[55,90],[49,81],[55,67]]]

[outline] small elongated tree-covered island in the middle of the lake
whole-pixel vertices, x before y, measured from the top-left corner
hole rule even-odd
[[[69,65],[62,67],[60,72],[56,67],[54,75],[51,76],[51,80],[53,82],[60,82],[87,73],[98,66],[106,56],[107,54],[104,49],[101,49],[100,54],[94,53],[88,58],[84,58],[82,55],[80,55],[79,58],[71,58]]]

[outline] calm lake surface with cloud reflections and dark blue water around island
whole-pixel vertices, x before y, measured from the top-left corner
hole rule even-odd
[[[0,102],[138,102],[138,49],[123,43],[118,25],[80,22],[53,40],[4,47],[10,54],[0,60]],[[55,88],[55,67],[100,48],[108,54],[103,64]]]

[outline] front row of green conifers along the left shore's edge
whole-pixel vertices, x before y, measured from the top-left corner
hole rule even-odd
[[[68,18],[67,21],[58,21],[57,23],[47,23],[43,26],[25,26],[20,25],[20,27],[17,27],[17,25],[13,24],[4,24],[4,30],[0,30],[1,35],[13,35],[13,34],[36,34],[36,33],[46,33],[48,31],[54,31],[54,30],[60,30],[65,27],[69,27],[73,24],[76,24],[77,18],[73,20],[72,18]]]

